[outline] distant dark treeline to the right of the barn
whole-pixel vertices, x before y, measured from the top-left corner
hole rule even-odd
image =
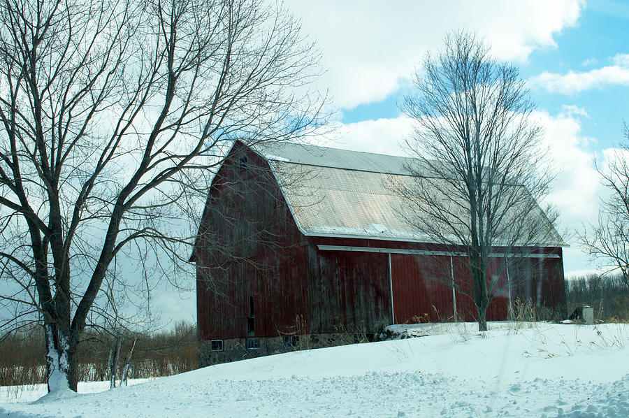
[[[589,305],[594,319],[629,322],[629,288],[619,275],[587,275],[565,281],[568,314]]]

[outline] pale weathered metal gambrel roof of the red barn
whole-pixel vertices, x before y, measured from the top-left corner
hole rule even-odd
[[[391,185],[415,179],[405,167],[418,160],[315,145],[266,143],[254,150],[269,161],[298,228],[306,236],[431,242],[405,221],[414,209]],[[430,176],[424,168],[426,177]],[[541,246],[566,246],[537,207]]]

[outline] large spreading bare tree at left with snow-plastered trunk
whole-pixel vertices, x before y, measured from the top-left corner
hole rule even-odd
[[[76,390],[81,333],[124,296],[120,259],[151,289],[172,268],[160,254],[187,259],[187,191],[225,146],[317,127],[317,57],[261,0],[0,0],[0,15],[1,295],[41,316],[49,391]]]

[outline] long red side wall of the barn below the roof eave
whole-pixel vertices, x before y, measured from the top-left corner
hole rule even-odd
[[[313,246],[335,246],[335,247],[366,247],[368,249],[377,248],[382,252],[360,252],[360,251],[340,251],[340,250],[318,250],[316,253],[310,251],[310,257],[319,257],[325,260],[326,268],[319,266],[319,275],[315,289],[326,284],[326,276],[329,280],[339,282],[338,277],[345,275],[363,275],[363,282],[366,287],[363,291],[371,291],[376,296],[375,300],[379,304],[374,308],[379,315],[379,324],[407,323],[407,322],[435,322],[454,320],[454,300],[456,299],[456,320],[475,321],[478,314],[476,305],[470,296],[474,292],[470,283],[470,271],[465,262],[460,257],[449,257],[444,255],[414,255],[414,254],[391,254],[391,283],[389,284],[389,260],[386,249],[394,250],[420,250],[431,252],[443,252],[449,250],[444,245],[433,245],[427,243],[408,243],[390,240],[367,240],[361,238],[310,238]],[[496,249],[500,252],[501,249]],[[544,308],[548,310],[548,317],[565,317],[565,291],[563,283],[563,260],[561,259],[561,248],[538,248],[535,252],[556,254],[559,258],[535,258],[520,257],[505,262],[503,258],[492,259],[487,271],[488,284],[494,278],[498,278],[493,289],[491,289],[491,303],[487,309],[487,319],[499,321],[509,318],[509,292],[512,303],[533,303],[538,310]],[[314,255],[313,255],[314,254]],[[330,262],[333,260],[333,262]],[[319,264],[321,262],[319,261]],[[352,265],[370,266],[370,273],[363,273],[352,270]],[[349,267],[348,267],[349,266]],[[316,267],[314,270],[316,271]],[[313,270],[311,266],[311,270]],[[507,283],[507,270],[509,270],[509,283]],[[452,292],[451,280],[454,276],[456,290]],[[391,284],[393,289],[393,310],[394,317],[391,317]],[[311,283],[311,286],[313,284]],[[335,312],[339,319],[347,318],[353,324],[354,311],[361,312],[363,305],[360,303],[347,305],[345,293],[355,292],[353,289],[339,288],[337,294],[326,295],[326,298],[333,299],[335,306],[342,307],[342,313],[333,310],[328,305],[322,305],[320,311],[325,310]],[[459,291],[460,290],[460,291]],[[343,293],[345,291],[345,293]],[[311,301],[317,301],[319,295],[310,292]],[[562,308],[563,307],[563,308]],[[563,310],[562,310],[563,309]],[[313,327],[320,321],[319,316],[324,313],[314,313]],[[319,309],[316,310],[319,312]],[[366,315],[365,313],[361,315]],[[329,316],[329,315],[328,315]],[[329,321],[328,321],[329,322]],[[373,323],[373,319],[367,322]],[[345,320],[345,323],[348,323]],[[325,327],[319,326],[319,328]]]

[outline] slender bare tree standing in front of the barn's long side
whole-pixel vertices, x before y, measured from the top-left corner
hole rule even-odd
[[[457,249],[453,255],[469,276],[454,285],[475,301],[484,331],[507,259],[513,263],[528,246],[561,238],[536,203],[550,177],[518,70],[496,62],[468,32],[444,41],[444,52],[427,55],[416,72],[417,95],[402,104],[415,122],[406,145],[418,162],[408,167],[414,182],[396,188],[411,209],[401,211],[412,214],[407,222]],[[488,281],[497,252],[507,257]]]

